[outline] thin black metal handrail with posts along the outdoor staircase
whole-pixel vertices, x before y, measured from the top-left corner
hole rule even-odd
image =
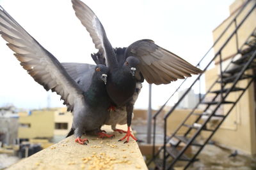
[[[253,7],[250,8],[250,10],[245,10],[246,7],[248,6],[248,4],[251,3],[251,2],[253,2],[253,0],[248,0],[248,1],[246,1],[246,3],[243,4],[243,6],[241,6],[241,9],[237,12],[236,16],[230,21],[230,23],[227,25],[227,27],[224,29],[224,31],[220,34],[218,39],[216,39],[214,44],[211,46],[211,48],[205,53],[204,57],[202,57],[202,59],[198,62],[198,64],[196,64],[197,67],[202,66],[203,65],[202,62],[204,62],[204,59],[207,57],[207,55],[209,55],[209,53],[216,46],[216,44],[218,42],[220,42],[220,39],[223,38],[223,35],[228,31],[228,29],[230,29],[233,25],[235,25],[234,31],[230,34],[230,36],[228,36],[225,43],[223,43],[223,45],[220,47],[218,52],[215,53],[214,57],[210,60],[210,62],[208,62],[208,64],[203,69],[203,71],[205,72],[208,69],[208,67],[214,62],[214,60],[219,56],[220,57],[220,76],[219,76],[219,78],[220,78],[221,82],[223,81],[223,75],[222,75],[223,74],[223,71],[222,71],[222,69],[223,69],[222,68],[223,67],[222,66],[223,59],[222,59],[221,52],[222,52],[223,48],[225,48],[225,46],[228,44],[228,42],[230,42],[230,39],[232,39],[234,36],[236,37],[236,50],[237,50],[237,52],[239,52],[239,43],[238,43],[237,31],[239,30],[241,25],[243,25],[246,18],[248,18],[250,16],[250,14],[252,13],[253,10],[255,10],[256,4],[253,4]],[[237,24],[237,18],[241,17],[241,13],[244,12],[244,11],[248,11],[248,13],[246,13],[246,15],[244,15],[243,20],[241,20],[241,22],[239,24]],[[228,68],[228,66],[225,68],[225,70]],[[182,83],[180,83],[179,87],[175,90],[175,92],[173,92],[173,94],[169,97],[169,99],[166,101],[166,103],[164,103],[163,106],[161,106],[161,108],[153,116],[153,125],[154,125],[154,127],[153,127],[153,136],[154,136],[154,138],[153,138],[153,148],[152,148],[153,157],[150,161],[148,161],[148,164],[150,164],[152,162],[152,160],[156,159],[156,157],[159,155],[161,150],[163,150],[163,155],[165,157],[165,155],[166,155],[166,143],[168,142],[168,140],[170,140],[177,133],[177,131],[179,131],[182,124],[184,124],[184,122],[186,122],[186,120],[188,120],[189,116],[193,113],[193,111],[195,111],[196,107],[200,104],[200,101],[204,100],[205,96],[202,96],[201,91],[199,90],[199,103],[196,105],[194,110],[191,111],[191,114],[189,114],[188,117],[185,118],[185,120],[182,122],[182,124],[180,124],[180,126],[177,128],[177,130],[175,132],[173,132],[172,136],[170,136],[170,138],[167,138],[167,134],[166,134],[167,118],[170,117],[170,115],[177,108],[177,106],[179,106],[179,104],[184,99],[184,97],[186,97],[186,95],[192,89],[192,87],[195,86],[196,82],[199,82],[199,88],[200,88],[200,84],[201,84],[201,80],[202,80],[201,76],[202,76],[202,74],[198,75],[198,77],[195,79],[195,81],[193,81],[193,83],[191,83],[191,85],[186,90],[186,92],[184,92],[184,94],[179,98],[177,103],[170,109],[170,111],[168,111],[168,113],[166,113],[166,115],[164,115],[164,142],[163,142],[163,146],[158,150],[157,153],[155,152],[155,149],[156,149],[156,120],[157,120],[157,117],[159,117],[159,115],[161,115],[161,113],[163,114],[162,111],[163,111],[164,107],[166,106],[166,104],[168,103],[168,101],[170,101],[170,99],[172,99],[173,96],[175,96],[175,94],[177,94],[179,89],[184,87],[184,84],[185,84],[186,81],[188,81],[188,78],[186,78],[184,81],[182,81]],[[212,84],[212,86],[209,88],[209,90],[207,92],[209,92],[212,89],[213,86],[214,86],[214,84]],[[223,90],[223,83],[221,83],[221,90]],[[222,95],[221,95],[221,98],[223,99]],[[163,160],[163,167],[165,167],[165,160]]]

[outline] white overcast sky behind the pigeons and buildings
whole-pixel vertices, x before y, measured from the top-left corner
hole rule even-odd
[[[229,15],[234,0],[83,0],[104,25],[113,47],[129,46],[139,39],[155,43],[192,64],[212,45],[212,30]],[[93,64],[90,53],[97,52],[86,29],[74,14],[71,1],[0,0],[1,6],[60,62]],[[63,106],[55,93],[45,92],[19,65],[13,52],[0,39],[0,106],[38,109]],[[170,85],[152,86],[152,106],[162,105],[175,89]],[[135,108],[147,108],[148,84]]]

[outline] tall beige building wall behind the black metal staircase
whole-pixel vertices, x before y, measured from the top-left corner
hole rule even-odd
[[[234,15],[236,15],[236,9],[243,4],[244,0],[237,0],[230,6],[230,17],[228,17],[222,24],[220,24],[213,31],[214,41],[220,36],[221,32],[225,27],[227,27],[228,23]],[[249,8],[252,8],[253,3],[247,7],[247,11]],[[244,15],[244,13],[243,13]],[[241,21],[241,18],[238,18],[237,23]],[[256,10],[253,11],[251,16],[244,22],[243,27],[241,27],[238,32],[238,40],[239,46],[241,46],[246,38],[248,38],[249,34],[252,33],[253,29],[256,27]],[[234,25],[233,25],[234,26]],[[217,44],[216,48],[214,48],[215,52],[218,52],[220,46],[224,43],[225,39],[227,39],[228,35],[234,31],[234,27],[229,29],[225,36],[221,39],[220,43]],[[228,59],[231,55],[236,53],[236,38],[232,38],[232,41],[228,43],[227,47],[224,48],[223,59]],[[216,80],[218,73],[220,71],[218,64],[219,59],[215,60],[216,66],[213,69],[209,69],[205,73],[205,87],[209,89],[212,83]],[[227,60],[227,62],[230,62]],[[239,81],[237,87],[244,87],[248,83],[248,80]],[[214,90],[220,89],[219,85],[216,85]],[[255,99],[254,99],[254,87],[251,85],[248,90],[244,93],[243,97],[241,97],[240,101],[236,104],[235,108],[232,110],[230,115],[226,118],[225,122],[221,125],[220,129],[214,134],[213,140],[226,145],[230,148],[236,148],[238,150],[242,150],[245,153],[255,154],[256,153],[256,118],[255,118]],[[232,92],[230,97],[227,100],[234,101],[238,97],[240,92]],[[224,106],[223,110],[228,110],[228,106]],[[228,137],[228,138],[227,138]]]

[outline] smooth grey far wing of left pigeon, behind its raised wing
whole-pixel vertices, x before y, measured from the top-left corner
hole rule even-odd
[[[76,62],[62,62],[61,64],[70,77],[76,81],[84,92],[86,92],[92,83],[92,76],[96,66],[93,64]]]

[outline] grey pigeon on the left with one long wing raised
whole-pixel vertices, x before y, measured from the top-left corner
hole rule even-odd
[[[77,143],[84,145],[88,142],[86,138],[81,139],[86,132],[110,137],[100,131],[100,127],[108,120],[108,108],[111,106],[106,91],[108,67],[87,64],[83,73],[84,87],[79,87],[79,80],[74,81],[61,63],[30,36],[2,6],[0,34],[28,74],[45,90],[51,89],[59,94],[63,104],[67,105],[67,110],[72,111],[74,118],[70,134],[75,134]]]

